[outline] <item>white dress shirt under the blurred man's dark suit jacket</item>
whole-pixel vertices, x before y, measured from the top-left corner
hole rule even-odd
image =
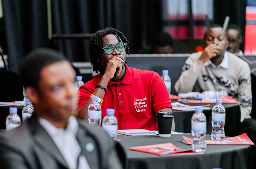
[[[39,123],[50,135],[60,153],[64,157],[70,169],[90,169],[88,162],[84,155],[81,154],[81,147],[76,139],[78,131],[78,122],[75,116],[71,116],[68,121],[66,129],[56,128],[46,119],[39,117]],[[79,157],[79,164],[77,161]]]

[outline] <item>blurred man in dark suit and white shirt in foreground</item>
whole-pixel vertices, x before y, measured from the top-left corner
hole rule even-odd
[[[122,168],[115,141],[73,116],[75,71],[64,55],[35,50],[22,62],[20,74],[34,114],[20,127],[1,133],[1,168]]]

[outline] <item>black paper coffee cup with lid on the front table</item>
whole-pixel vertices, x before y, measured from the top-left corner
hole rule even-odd
[[[159,137],[170,137],[172,129],[172,112],[162,112],[157,113],[157,126],[158,126],[158,136]]]

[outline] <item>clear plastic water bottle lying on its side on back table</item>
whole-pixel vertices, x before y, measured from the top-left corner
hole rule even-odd
[[[227,97],[226,91],[203,91],[197,94],[197,99],[202,99],[203,101],[211,101],[214,98],[225,98]]]

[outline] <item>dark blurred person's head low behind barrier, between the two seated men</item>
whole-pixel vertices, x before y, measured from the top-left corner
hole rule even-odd
[[[138,51],[138,53],[156,53],[169,54],[173,52],[172,37],[168,33],[156,33],[152,40],[152,45],[146,46]]]

